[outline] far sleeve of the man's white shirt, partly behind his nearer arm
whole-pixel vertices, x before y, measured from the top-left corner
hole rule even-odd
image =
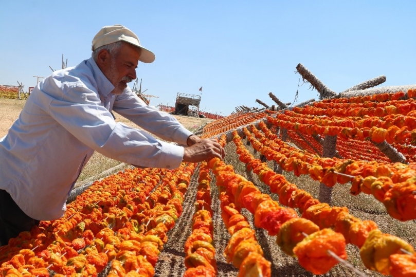
[[[193,134],[172,115],[146,105],[130,88],[117,96],[113,109],[149,133],[167,141],[187,145],[188,137]]]

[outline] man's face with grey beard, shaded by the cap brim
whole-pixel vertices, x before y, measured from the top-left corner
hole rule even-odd
[[[136,68],[140,51],[129,43],[123,43],[118,53],[111,55],[110,63],[103,68],[105,77],[114,85],[112,94],[119,95],[127,87],[127,83],[136,79]]]

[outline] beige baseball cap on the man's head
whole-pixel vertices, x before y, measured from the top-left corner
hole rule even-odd
[[[155,60],[155,54],[141,46],[137,35],[120,24],[102,27],[94,36],[92,50],[94,51],[98,47],[118,41],[125,41],[141,48],[140,62],[152,63]]]

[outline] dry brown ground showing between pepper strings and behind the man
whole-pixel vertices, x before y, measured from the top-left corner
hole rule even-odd
[[[22,100],[0,99],[0,116],[2,118],[0,123],[0,137],[7,133],[8,128],[18,117],[23,105],[24,101]],[[189,118],[183,116],[178,116],[177,119],[182,124],[184,124],[184,126],[186,126],[189,130],[193,131],[197,129],[197,126],[201,126],[206,122],[210,121],[208,119]],[[117,120],[125,124],[131,124],[130,122],[120,117],[117,117]],[[252,148],[251,151],[253,151]],[[226,153],[227,155],[225,161],[227,163],[232,164],[237,173],[245,176],[247,179],[254,182],[264,193],[270,193],[268,187],[265,186],[265,184],[263,184],[262,182],[260,182],[255,174],[252,174],[251,172],[247,173],[244,164],[238,160],[236,154],[236,147],[232,142],[227,144]],[[258,153],[254,154],[257,155],[257,157],[259,157]],[[83,179],[85,181],[88,180],[88,178],[102,178],[105,175],[111,173],[111,171],[106,171],[107,169],[113,168],[115,165],[118,164],[120,164],[120,162],[107,159],[99,154],[95,154],[93,158],[88,162],[87,167],[83,171]],[[127,165],[121,165],[121,167],[119,165],[119,168],[116,168],[116,170],[122,169],[123,166]],[[269,162],[269,167],[273,167],[272,162]],[[100,176],[98,173],[103,171],[104,174]],[[197,173],[197,170],[195,171],[195,173]],[[313,181],[310,177],[305,175],[296,177],[292,173],[284,173],[284,175],[289,181],[295,183],[299,188],[310,192],[314,197],[318,196],[319,183]],[[197,175],[194,175],[185,197],[183,214],[177,220],[175,227],[168,234],[169,241],[160,254],[159,262],[157,263],[155,268],[155,276],[182,276],[185,271],[185,254],[183,252],[183,247],[186,238],[191,232],[191,218],[194,212],[192,204],[195,201],[197,184],[197,178],[195,178],[195,176]],[[212,183],[214,184],[214,181]],[[416,237],[416,224],[414,223],[414,221],[402,223],[398,220],[391,218],[386,214],[384,206],[380,202],[374,200],[372,196],[365,194],[351,196],[349,193],[349,188],[349,184],[346,184],[344,186],[337,184],[334,187],[333,191],[332,205],[346,206],[349,208],[350,213],[354,216],[357,216],[363,220],[374,220],[383,232],[399,236],[405,239],[405,241],[411,243],[413,247],[416,247],[416,242],[414,241],[414,238]],[[232,265],[227,264],[225,262],[225,258],[222,255],[222,252],[230,236],[227,230],[225,229],[225,226],[221,219],[221,210],[218,200],[218,190],[216,190],[215,186],[212,186],[211,196],[213,199],[212,209],[214,211],[214,243],[216,249],[215,257],[219,269],[218,275],[237,276],[238,270],[234,268]],[[278,197],[276,195],[274,195],[273,197],[274,199],[278,200]],[[251,214],[245,211],[244,209],[243,212],[244,215],[249,219],[249,221],[252,222]],[[262,229],[254,229],[256,230],[258,241],[262,244],[265,257],[267,258],[267,260],[273,263],[273,276],[314,276],[312,273],[307,272],[302,267],[300,267],[296,258],[292,258],[284,254],[279,249],[279,247],[277,247],[275,243],[275,237],[268,236],[267,232],[265,232]],[[382,276],[381,274],[378,274],[374,271],[367,270],[363,266],[359,257],[359,249],[357,247],[348,245],[347,252],[348,261],[351,264],[353,264],[356,268],[360,269],[362,272],[365,272],[368,276]],[[355,274],[351,273],[345,267],[337,265],[324,276],[355,276]]]

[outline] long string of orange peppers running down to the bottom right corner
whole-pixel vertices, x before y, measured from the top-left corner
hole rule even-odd
[[[401,238],[382,233],[374,221],[354,217],[346,207],[330,207],[314,199],[308,192],[298,189],[283,175],[269,169],[266,163],[255,159],[242,143],[237,131],[233,132],[233,141],[237,146],[239,159],[246,163],[247,170],[258,174],[259,179],[270,187],[270,191],[279,195],[281,205],[298,208],[302,218],[310,219],[319,228],[331,228],[341,233],[346,243],[360,248],[361,259],[368,269],[394,277],[411,276],[409,274],[416,272],[416,254],[410,244]],[[299,233],[296,231],[292,230],[290,234]],[[279,235],[277,241],[279,242]],[[282,247],[282,250],[285,251],[285,248]],[[403,250],[410,254],[405,254]],[[317,250],[311,248],[309,251],[314,253]],[[322,256],[319,262],[325,264],[327,261],[330,259]]]

